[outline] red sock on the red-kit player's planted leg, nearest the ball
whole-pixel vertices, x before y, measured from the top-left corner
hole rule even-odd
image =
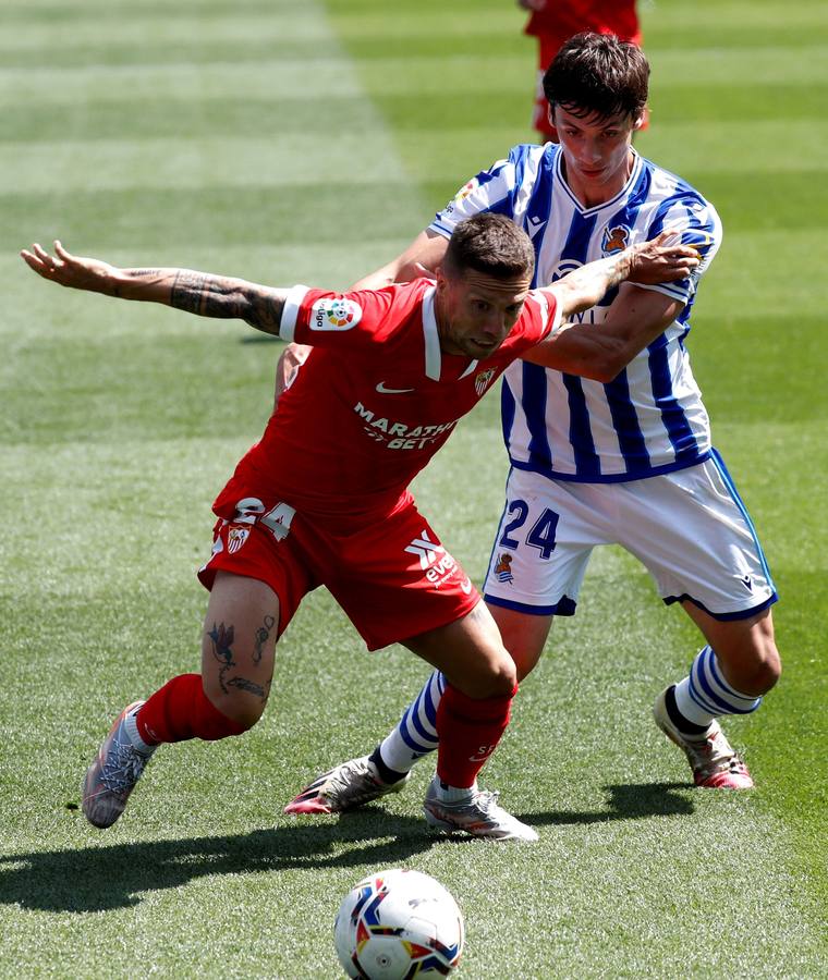
[[[437,708],[437,775],[449,786],[473,786],[509,724],[514,690],[503,698],[470,698],[446,685]]]

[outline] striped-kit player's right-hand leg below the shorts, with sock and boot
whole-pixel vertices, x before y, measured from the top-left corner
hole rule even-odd
[[[656,723],[686,755],[697,786],[750,789],[747,767],[717,718],[755,711],[778,681],[781,663],[771,612],[721,621],[692,602],[683,604],[708,646],[693,661],[690,675],[658,696]]]

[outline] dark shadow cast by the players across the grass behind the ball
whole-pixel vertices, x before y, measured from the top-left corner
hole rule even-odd
[[[538,826],[693,812],[693,804],[673,792],[686,791],[689,787],[683,783],[606,788],[607,810],[533,813],[525,819]],[[476,844],[471,837],[453,840]],[[104,911],[137,905],[142,892],[175,889],[204,874],[393,866],[427,850],[434,841],[422,819],[372,808],[346,813],[336,822],[277,826],[229,837],[4,855],[0,857],[0,903],[56,912]],[[356,846],[345,853],[332,853],[349,842]]]

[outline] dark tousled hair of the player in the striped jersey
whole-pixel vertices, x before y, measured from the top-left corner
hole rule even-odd
[[[585,30],[571,37],[544,75],[549,105],[579,119],[632,115],[647,105],[649,62],[644,52],[614,34]]]

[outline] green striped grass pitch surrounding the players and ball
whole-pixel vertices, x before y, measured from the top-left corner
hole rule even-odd
[[[428,765],[341,820],[283,804],[364,751],[426,675],[309,597],[240,739],[162,749],[110,831],[77,809],[111,718],[197,664],[209,504],[268,415],[277,344],[37,280],[33,241],[117,264],[344,286],[531,139],[511,0],[0,5],[0,976],[334,978],[363,874],[456,896],[470,980],[828,975],[828,13],[644,8],[642,151],[718,206],[690,339],[783,601],[784,674],[728,731],[758,788],[696,792],[649,716],[696,637],[614,549],[556,625],[485,784],[540,843],[435,843]],[[497,399],[417,483],[477,578],[501,506]]]

